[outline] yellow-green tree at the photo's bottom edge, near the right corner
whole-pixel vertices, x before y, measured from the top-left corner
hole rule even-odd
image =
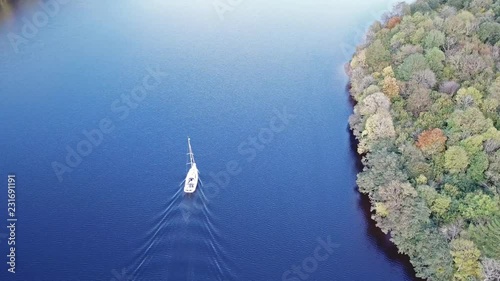
[[[451,241],[451,255],[455,262],[454,280],[477,280],[482,278],[482,268],[479,263],[481,252],[474,242],[465,239]]]

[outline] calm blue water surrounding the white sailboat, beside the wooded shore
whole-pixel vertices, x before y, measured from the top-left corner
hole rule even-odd
[[[17,273],[1,236],[0,280],[411,280],[356,192],[347,129],[343,64],[389,2],[242,1],[224,20],[209,0],[4,13],[0,170],[5,186],[16,174],[18,222]],[[188,135],[193,196],[179,187]]]

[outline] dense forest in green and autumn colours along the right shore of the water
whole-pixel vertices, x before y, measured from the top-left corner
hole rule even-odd
[[[399,3],[347,65],[372,218],[419,278],[500,280],[500,1]]]

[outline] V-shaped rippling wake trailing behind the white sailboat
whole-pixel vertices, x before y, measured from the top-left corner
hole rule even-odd
[[[133,280],[236,280],[217,216],[206,199],[202,187],[194,194],[172,190],[133,255]]]

